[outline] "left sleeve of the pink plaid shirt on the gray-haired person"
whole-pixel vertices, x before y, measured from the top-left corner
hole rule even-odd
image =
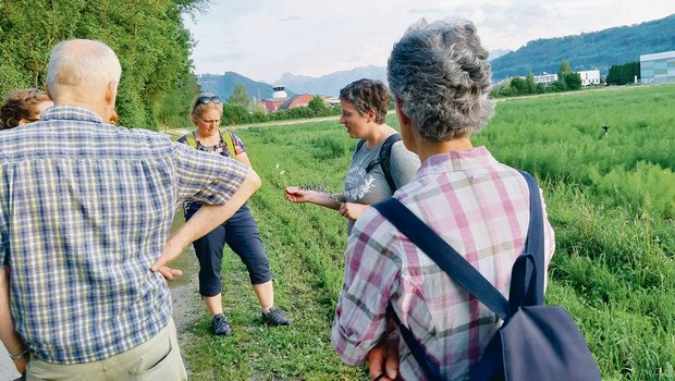
[[[345,364],[363,364],[386,334],[386,306],[400,267],[392,226],[375,208],[354,225],[347,241],[343,291],[338,300],[331,341]],[[378,234],[378,238],[376,238]]]

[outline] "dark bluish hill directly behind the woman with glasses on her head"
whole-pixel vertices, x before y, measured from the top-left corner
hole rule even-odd
[[[234,93],[234,86],[237,84],[243,84],[246,87],[246,91],[251,99],[272,98],[273,93],[272,85],[250,79],[235,72],[225,72],[223,75],[199,74],[197,75],[197,81],[201,85],[202,91],[217,94],[223,100]],[[289,96],[295,95],[289,88],[286,88],[286,93]]]

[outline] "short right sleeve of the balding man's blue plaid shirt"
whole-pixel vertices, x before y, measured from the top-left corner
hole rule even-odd
[[[210,155],[175,143],[177,201],[224,205],[240,188],[248,167],[220,155]]]

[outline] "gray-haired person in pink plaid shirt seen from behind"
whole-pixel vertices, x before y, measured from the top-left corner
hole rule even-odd
[[[488,51],[468,21],[422,20],[394,45],[389,86],[403,142],[422,164],[393,197],[507,296],[527,236],[529,192],[517,170],[471,145],[493,112],[490,75]],[[545,211],[544,249],[548,268],[554,235]],[[346,364],[368,361],[373,379],[425,380],[388,305],[449,380],[468,378],[501,324],[371,208],[348,238],[331,340]]]

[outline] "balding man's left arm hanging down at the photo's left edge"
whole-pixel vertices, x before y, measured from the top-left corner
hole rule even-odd
[[[24,352],[26,345],[14,330],[14,320],[10,314],[10,280],[5,267],[0,267],[0,341],[11,355],[23,354],[22,358],[14,360],[14,366],[20,373],[24,373],[29,355]]]

